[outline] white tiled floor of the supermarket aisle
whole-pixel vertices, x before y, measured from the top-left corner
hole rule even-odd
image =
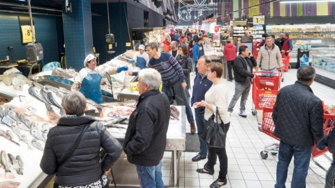
[[[287,73],[284,73],[284,82],[281,83],[281,87],[293,84],[296,81],[296,72],[297,69],[289,69]],[[234,82],[225,80],[225,84],[231,98],[234,94]],[[313,83],[311,88],[315,95],[322,99],[325,104],[335,104],[333,98],[333,96],[335,96],[335,89],[331,89],[317,82]],[[278,157],[277,155],[271,155],[269,153],[267,159],[261,159],[259,153],[263,150],[265,145],[278,142],[270,136],[259,132],[257,119],[251,114],[252,104],[253,101],[250,91],[247,102],[247,118],[237,115],[239,102],[236,103],[235,110],[232,113],[231,126],[226,143],[228,155],[228,183],[222,187],[274,187]],[[187,127],[187,132],[190,132],[189,127]],[[191,158],[195,155],[196,152],[184,152],[181,157],[180,187],[209,187],[218,176],[219,161],[216,162],[217,165],[214,168],[214,175],[196,173],[195,170],[197,168],[203,168],[206,159],[192,162]],[[171,177],[170,156],[171,153],[166,152],[163,158],[165,184],[169,184],[168,177]],[[329,160],[323,156],[317,157],[316,160],[325,168],[328,168],[330,165]],[[317,174],[311,171],[311,169]],[[290,187],[292,173],[293,161],[288,170],[287,187]],[[307,187],[324,187],[324,176],[325,172],[311,161],[306,179]]]

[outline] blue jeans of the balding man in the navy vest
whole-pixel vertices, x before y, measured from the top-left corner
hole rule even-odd
[[[196,128],[198,130],[198,137],[199,137],[199,143],[200,143],[199,144],[200,145],[200,151],[199,151],[198,155],[200,155],[202,157],[206,157],[207,152],[208,152],[208,146],[202,138],[203,131],[204,131],[204,128],[205,128],[206,123],[207,123],[207,121],[205,120],[205,114],[195,111],[195,122],[196,122]]]

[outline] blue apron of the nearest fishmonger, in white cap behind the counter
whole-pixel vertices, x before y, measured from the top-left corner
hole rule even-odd
[[[103,103],[102,93],[100,90],[100,82],[102,76],[100,74],[88,74],[81,82],[79,91],[87,99],[92,99],[94,102],[100,104]]]

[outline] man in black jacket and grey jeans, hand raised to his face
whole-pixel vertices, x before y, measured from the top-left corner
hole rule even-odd
[[[240,46],[239,56],[236,57],[233,69],[235,76],[235,94],[228,106],[228,112],[232,113],[237,100],[241,97],[240,112],[238,115],[247,117],[245,114],[245,103],[247,103],[251,88],[253,67],[257,65],[254,56],[249,52],[248,46]]]

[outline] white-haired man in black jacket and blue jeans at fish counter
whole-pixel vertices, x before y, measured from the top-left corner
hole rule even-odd
[[[124,152],[136,165],[141,187],[164,187],[162,161],[170,119],[170,102],[159,91],[162,78],[153,68],[139,72],[140,97],[129,117]]]

